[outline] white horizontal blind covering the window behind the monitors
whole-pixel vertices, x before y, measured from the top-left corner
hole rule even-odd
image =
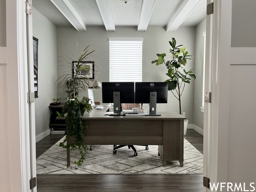
[[[142,40],[109,40],[110,82],[142,82]]]

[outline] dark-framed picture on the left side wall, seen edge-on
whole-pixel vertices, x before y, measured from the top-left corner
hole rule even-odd
[[[38,98],[38,38],[33,37],[34,93]]]

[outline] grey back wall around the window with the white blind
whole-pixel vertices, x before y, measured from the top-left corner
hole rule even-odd
[[[71,56],[68,47],[76,54],[76,42],[78,40],[78,52],[88,44],[92,44],[91,50],[96,50],[91,58],[100,67],[100,74],[96,74],[100,82],[109,81],[109,41],[108,38],[114,37],[134,37],[144,38],[142,52],[142,80],[163,82],[166,76],[166,67],[151,64],[157,58],[156,53],[168,54],[172,37],[175,37],[178,44],[184,44],[189,54],[194,55],[195,27],[180,27],[176,32],[166,32],[164,28],[148,27],[146,32],[138,32],[136,27],[116,27],[115,32],[107,32],[104,27],[88,27],[86,32],[77,32],[72,27],[57,27],[58,56]],[[66,46],[64,44],[68,46]],[[167,57],[170,59],[170,55]],[[60,62],[58,62],[60,66]],[[194,68],[194,60],[185,66],[186,70]],[[58,74],[62,70],[58,69]],[[194,83],[186,85],[182,95],[182,111],[186,112],[189,123],[193,123],[193,102],[194,102]],[[58,89],[58,96],[65,96],[62,89]],[[95,101],[102,102],[101,90],[95,93]],[[168,94],[168,104],[158,104],[158,111],[178,112],[178,100],[171,92]]]

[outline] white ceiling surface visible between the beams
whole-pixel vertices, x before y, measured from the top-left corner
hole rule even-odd
[[[156,0],[148,26],[166,27],[183,1]],[[86,26],[104,26],[96,0],[69,0],[69,2]],[[115,26],[138,26],[143,0],[108,0],[108,3]],[[50,0],[32,0],[32,5],[56,26],[72,26]],[[196,26],[204,18],[206,18],[206,0],[198,4],[181,26]]]

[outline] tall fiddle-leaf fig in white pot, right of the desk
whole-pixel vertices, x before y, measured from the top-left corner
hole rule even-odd
[[[169,41],[171,46],[170,54],[171,60],[165,61],[165,53],[156,54],[158,56],[157,60],[152,61],[157,66],[160,64],[165,64],[167,68],[166,75],[169,77],[165,82],[168,82],[168,90],[172,92],[176,99],[179,101],[180,114],[182,114],[181,96],[184,91],[185,85],[190,84],[190,80],[195,80],[196,76],[193,74],[192,70],[186,71],[184,66],[187,64],[187,60],[191,61],[192,55],[189,55],[186,48],[183,45],[176,46],[175,38]],[[183,70],[182,70],[183,69]],[[184,121],[184,134],[186,134],[186,128],[188,126],[188,120]]]

